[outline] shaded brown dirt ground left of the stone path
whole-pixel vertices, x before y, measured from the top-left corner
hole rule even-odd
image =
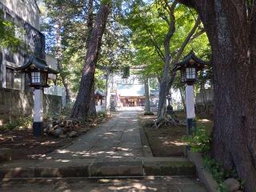
[[[110,117],[109,117],[110,118]],[[79,127],[78,136],[85,134],[86,131],[93,129],[97,124],[106,122],[109,118],[101,118]],[[56,138],[45,134],[41,138],[33,136],[32,129],[22,130],[1,130],[0,145],[1,148],[12,149],[12,159],[40,159],[46,154],[71,144],[74,138]]]

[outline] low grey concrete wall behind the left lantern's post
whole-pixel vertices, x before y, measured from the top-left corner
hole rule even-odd
[[[0,125],[11,118],[31,116],[34,109],[33,92],[0,88]],[[58,113],[62,97],[44,94],[44,113]]]

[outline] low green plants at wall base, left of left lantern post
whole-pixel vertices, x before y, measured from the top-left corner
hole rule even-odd
[[[18,117],[4,124],[2,128],[5,130],[26,129],[32,126],[32,122],[31,117]]]

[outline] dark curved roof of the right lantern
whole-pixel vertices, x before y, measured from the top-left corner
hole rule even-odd
[[[202,61],[201,58],[198,58],[194,54],[194,51],[191,50],[190,53],[183,58],[182,62],[178,62],[174,65],[173,71],[182,70],[182,68],[185,68],[187,66],[197,66],[198,69],[200,70],[205,66],[207,66],[208,64],[209,64],[208,62]]]

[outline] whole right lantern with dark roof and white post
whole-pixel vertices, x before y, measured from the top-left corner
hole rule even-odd
[[[207,65],[206,62],[197,58],[193,51],[187,54],[182,62],[174,66],[174,71],[180,70],[182,82],[186,83],[186,133],[193,134],[196,130],[194,110],[194,82],[198,80],[198,71]]]

